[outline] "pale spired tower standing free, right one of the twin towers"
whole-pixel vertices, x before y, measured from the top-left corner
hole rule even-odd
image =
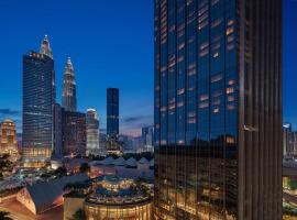
[[[64,72],[62,107],[65,111],[77,109],[75,70],[70,57],[67,59]]]

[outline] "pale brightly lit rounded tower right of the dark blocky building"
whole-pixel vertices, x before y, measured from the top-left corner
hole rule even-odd
[[[87,154],[99,155],[99,119],[95,109],[88,109],[87,123]]]

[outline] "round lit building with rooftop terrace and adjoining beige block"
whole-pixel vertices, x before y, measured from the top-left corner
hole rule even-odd
[[[88,193],[85,200],[79,195],[81,193],[75,191],[64,197],[64,213],[67,215],[64,219],[72,217],[79,208],[85,210],[87,219],[152,219],[153,199],[148,185],[138,185],[132,179],[117,176],[102,176],[95,179],[90,188],[84,189]]]

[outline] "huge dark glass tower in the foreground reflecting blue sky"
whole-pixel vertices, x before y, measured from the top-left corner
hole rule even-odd
[[[282,0],[155,0],[156,219],[282,219]]]

